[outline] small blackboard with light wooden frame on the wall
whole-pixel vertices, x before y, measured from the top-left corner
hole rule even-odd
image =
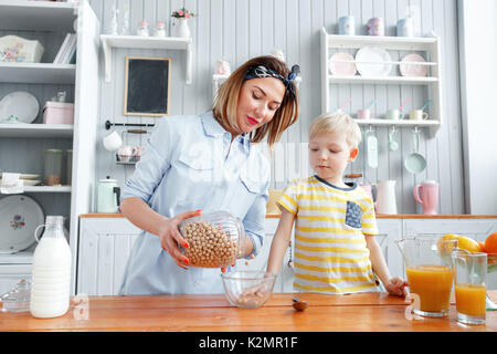
[[[126,56],[125,115],[169,114],[170,58]]]

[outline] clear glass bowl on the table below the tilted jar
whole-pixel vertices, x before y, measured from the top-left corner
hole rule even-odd
[[[269,300],[276,275],[264,271],[231,271],[222,273],[224,295],[241,309],[257,309]]]

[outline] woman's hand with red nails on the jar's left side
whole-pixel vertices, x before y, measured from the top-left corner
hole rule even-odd
[[[181,244],[184,248],[189,248],[187,240],[181,236],[179,231],[179,223],[184,219],[198,217],[202,215],[202,210],[190,210],[186,212],[178,214],[177,216],[165,219],[159,227],[159,239],[160,246],[165,251],[171,256],[172,260],[183,269],[188,269],[189,260],[178,248],[178,244]]]

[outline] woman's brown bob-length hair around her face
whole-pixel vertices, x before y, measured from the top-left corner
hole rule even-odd
[[[263,65],[283,77],[288,77],[289,70],[286,64],[271,55],[253,58],[236,69],[219,88],[212,107],[214,117],[225,129],[240,131],[236,122],[240,91],[246,81],[245,74],[247,70],[258,65]],[[286,90],[282,104],[274,114],[273,119],[251,132],[250,139],[252,143],[261,143],[267,136],[267,145],[271,148],[279,140],[283,132],[297,121],[298,93],[295,82],[292,82],[290,85],[294,85],[295,94],[293,95]]]

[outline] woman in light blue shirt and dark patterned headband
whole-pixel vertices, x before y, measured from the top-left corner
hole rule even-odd
[[[220,271],[188,268],[178,225],[226,210],[243,221],[243,257],[256,256],[264,236],[269,148],[298,116],[294,79],[274,56],[240,66],[221,86],[212,111],[165,117],[123,190],[121,211],[144,230],[126,268],[121,294],[219,293]],[[197,210],[197,211],[193,211]],[[223,270],[224,271],[224,270]]]

